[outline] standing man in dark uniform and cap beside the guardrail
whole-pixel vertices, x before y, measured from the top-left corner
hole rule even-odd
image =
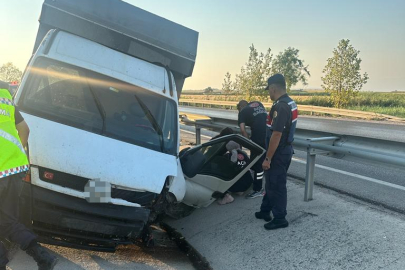
[[[268,221],[267,230],[288,227],[287,215],[287,171],[294,149],[292,142],[297,125],[297,104],[287,95],[284,76],[275,74],[267,81],[274,104],[267,123],[268,148],[262,163],[266,178],[266,194],[256,218]],[[273,213],[273,219],[270,212]]]

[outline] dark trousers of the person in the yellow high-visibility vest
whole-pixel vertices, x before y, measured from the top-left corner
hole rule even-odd
[[[26,250],[36,235],[18,221],[19,197],[23,174],[0,178],[0,238],[18,244]],[[0,266],[8,263],[7,250],[0,242]]]

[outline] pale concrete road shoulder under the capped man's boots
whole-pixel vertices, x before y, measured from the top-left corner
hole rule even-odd
[[[405,269],[405,217],[325,188],[304,202],[288,181],[286,229],[266,231],[253,213],[260,199],[237,197],[168,223],[213,269]]]

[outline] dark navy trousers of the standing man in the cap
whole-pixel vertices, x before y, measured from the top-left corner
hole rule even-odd
[[[287,171],[293,153],[291,145],[277,149],[271,159],[270,169],[265,171],[266,194],[260,211],[271,211],[276,219],[285,218],[287,215]]]

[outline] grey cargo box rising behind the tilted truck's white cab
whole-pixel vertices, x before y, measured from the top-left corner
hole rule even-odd
[[[179,95],[192,75],[198,32],[121,0],[45,0],[39,22],[34,52],[50,29],[60,29],[168,67]]]

